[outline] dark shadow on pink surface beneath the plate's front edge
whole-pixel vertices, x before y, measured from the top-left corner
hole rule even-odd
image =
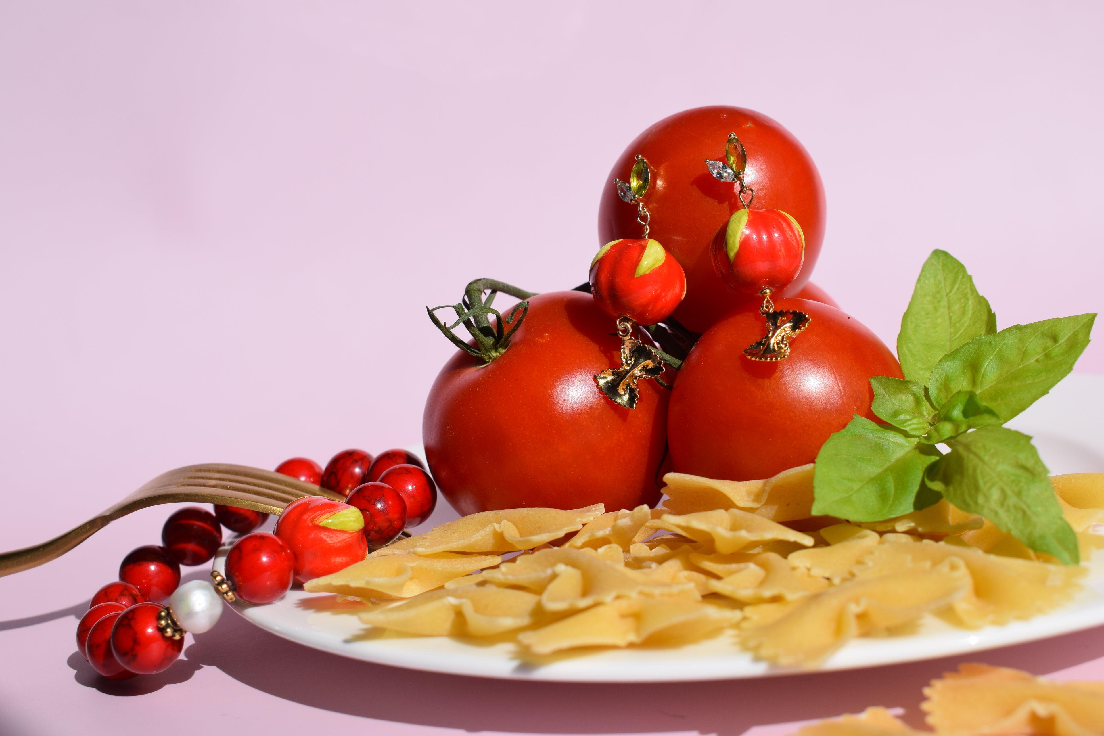
[[[229,611],[227,611],[229,614]],[[141,695],[183,682],[200,668],[270,695],[378,721],[521,733],[701,732],[739,736],[757,724],[857,713],[868,705],[903,706],[922,725],[921,689],[957,668],[943,659],[851,672],[764,680],[667,684],[571,684],[499,681],[416,672],[307,649],[227,615],[194,640],[167,672],[134,681],[96,676],[70,658],[78,683],[109,695]],[[979,652],[965,661],[1048,673],[1104,658],[1104,628]]]

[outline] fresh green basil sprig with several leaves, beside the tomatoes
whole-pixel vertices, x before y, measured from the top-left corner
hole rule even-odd
[[[1064,378],[1096,314],[997,331],[989,302],[951,254],[934,250],[901,319],[905,378],[870,380],[871,408],[817,455],[813,513],[873,522],[946,498],[1036,552],[1079,562],[1047,466],[1031,438],[1005,424]],[[951,448],[946,455],[935,447]]]

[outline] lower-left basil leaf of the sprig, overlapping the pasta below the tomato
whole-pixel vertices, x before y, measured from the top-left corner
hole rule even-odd
[[[914,509],[924,470],[938,457],[917,438],[856,414],[817,454],[813,513],[851,521],[906,514]]]

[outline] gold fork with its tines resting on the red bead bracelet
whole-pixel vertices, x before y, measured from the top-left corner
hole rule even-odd
[[[344,501],[344,497],[325,488],[259,468],[217,462],[177,468],[158,476],[98,516],[61,536],[0,554],[0,577],[56,559],[116,519],[158,503],[222,503],[278,514],[291,501],[305,495],[325,495]]]

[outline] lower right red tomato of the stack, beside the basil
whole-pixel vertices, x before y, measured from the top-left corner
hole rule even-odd
[[[743,354],[766,334],[758,306],[747,305],[711,327],[682,364],[667,423],[677,472],[754,480],[813,462],[852,414],[878,420],[872,376],[903,377],[893,353],[858,320],[805,299],[774,305],[811,318],[789,358],[767,363]]]

